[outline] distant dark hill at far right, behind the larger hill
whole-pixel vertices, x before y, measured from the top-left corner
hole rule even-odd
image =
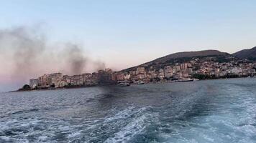
[[[240,59],[256,60],[256,46],[252,49],[243,49],[241,51],[237,51],[233,55]]]

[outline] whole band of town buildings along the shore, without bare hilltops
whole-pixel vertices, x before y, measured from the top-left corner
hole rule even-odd
[[[30,79],[32,89],[61,88],[76,86],[95,86],[98,84],[114,84],[125,81],[134,84],[150,82],[168,82],[172,80],[193,79],[195,75],[207,75],[214,78],[254,76],[256,63],[247,60],[217,62],[193,58],[183,63],[170,63],[160,66],[137,66],[129,70],[99,70],[91,74],[73,76],[61,73],[45,74],[37,79]]]

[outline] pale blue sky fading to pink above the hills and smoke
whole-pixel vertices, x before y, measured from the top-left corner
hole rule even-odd
[[[47,49],[58,49],[54,45],[60,43],[78,44],[91,61],[104,61],[114,70],[178,51],[234,53],[252,48],[255,17],[254,0],[0,0],[0,31],[12,33],[20,27],[37,31],[38,27],[51,45]],[[8,47],[0,46],[0,92],[28,82],[27,77],[16,80],[9,74],[14,56],[8,56],[12,46]],[[53,66],[42,71],[58,71]]]

